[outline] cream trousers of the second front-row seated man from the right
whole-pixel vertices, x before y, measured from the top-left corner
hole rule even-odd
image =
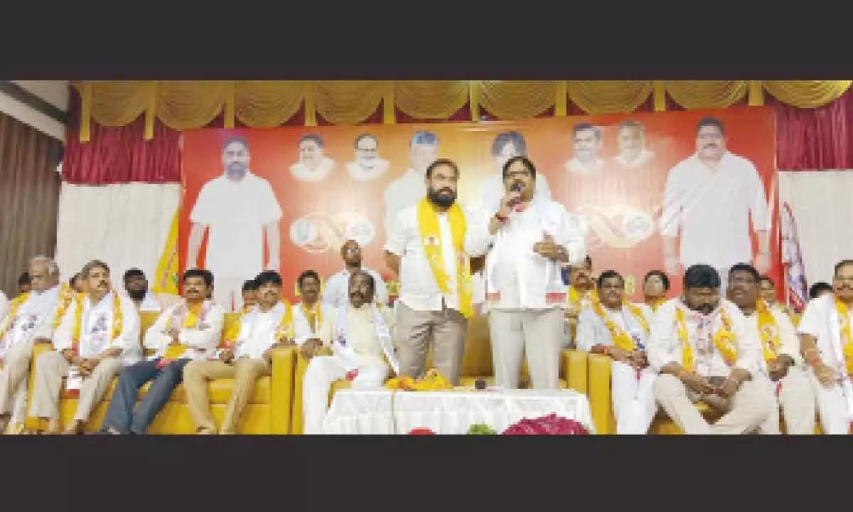
[[[776,383],[767,379],[765,384],[771,393],[776,392]],[[786,432],[792,435],[815,433],[815,390],[809,374],[796,366],[788,369],[788,375],[780,381],[777,406],[770,412],[767,421],[758,428],[758,433],[780,434],[779,410],[785,418]]]

